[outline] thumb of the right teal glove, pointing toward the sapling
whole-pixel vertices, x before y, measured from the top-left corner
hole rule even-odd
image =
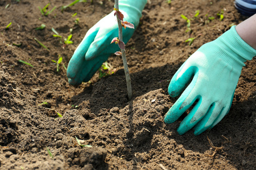
[[[180,69],[177,70],[177,72],[171,79],[171,82],[168,87],[168,94],[171,97],[179,96],[189,83],[189,80],[191,80],[192,76],[197,72],[197,70],[197,67],[189,67],[187,61],[184,62]],[[195,79],[195,77],[193,79]]]

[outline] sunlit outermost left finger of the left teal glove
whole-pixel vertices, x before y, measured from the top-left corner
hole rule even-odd
[[[98,31],[94,31],[90,33],[89,36],[85,36],[79,46],[76,48],[73,56],[71,57],[68,68],[67,68],[67,76],[68,78],[75,78],[77,72],[81,69],[82,65],[85,62],[85,53],[87,52],[90,44],[93,42],[94,37],[97,35]]]

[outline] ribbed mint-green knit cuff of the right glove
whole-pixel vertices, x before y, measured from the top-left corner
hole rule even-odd
[[[236,31],[236,26],[234,25],[223,33],[218,39],[214,40],[218,48],[226,54],[226,58],[223,58],[226,62],[233,63],[233,65],[245,66],[243,62],[246,60],[253,59],[256,56],[256,50],[247,44]],[[236,61],[236,63],[234,63]]]

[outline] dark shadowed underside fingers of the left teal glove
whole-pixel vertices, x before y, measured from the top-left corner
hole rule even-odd
[[[101,67],[102,63],[108,59],[109,56],[98,56],[90,61],[84,61],[82,66],[77,73],[76,77],[68,79],[69,84],[79,85],[82,82],[88,82],[90,78],[96,73],[96,71]]]

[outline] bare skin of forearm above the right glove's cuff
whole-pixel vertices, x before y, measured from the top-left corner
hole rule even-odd
[[[236,31],[243,41],[256,49],[256,14],[238,24]]]

